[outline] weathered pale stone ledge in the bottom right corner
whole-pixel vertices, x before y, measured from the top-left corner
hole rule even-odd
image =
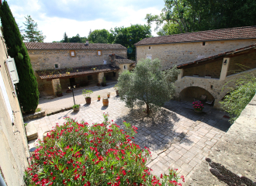
[[[185,185],[256,185],[256,95]]]

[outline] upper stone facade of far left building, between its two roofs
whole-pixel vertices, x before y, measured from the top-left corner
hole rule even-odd
[[[101,56],[97,55],[97,50],[75,50],[75,57],[70,56],[70,50],[28,50],[28,52],[34,71],[54,70],[54,64],[58,64],[59,68],[102,65],[103,60],[110,64],[110,53],[127,57],[126,50],[102,50]]]

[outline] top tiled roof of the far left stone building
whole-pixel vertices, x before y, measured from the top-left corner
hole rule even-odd
[[[25,43],[27,50],[127,50],[120,44],[105,43]]]

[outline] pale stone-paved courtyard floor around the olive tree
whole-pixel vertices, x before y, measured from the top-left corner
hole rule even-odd
[[[109,120],[113,119],[121,127],[124,120],[137,126],[134,141],[141,147],[150,148],[152,157],[147,166],[157,176],[171,167],[189,178],[230,127],[223,118],[225,113],[210,107],[205,112],[196,113],[192,110],[192,103],[170,101],[161,112],[147,117],[141,109],[126,108],[116,96],[109,98],[108,107],[102,106],[102,100],[93,101],[90,105],[81,105],[79,112],[69,110],[29,122],[34,122],[40,139],[43,139],[43,133],[56,123],[63,124],[66,116],[92,124],[103,121],[103,112],[109,113]],[[29,147],[34,145],[33,142],[29,142]]]

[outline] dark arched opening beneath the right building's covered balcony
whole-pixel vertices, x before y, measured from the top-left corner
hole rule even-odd
[[[193,102],[194,98],[200,98],[201,95],[206,95],[207,101],[216,100],[216,98],[213,96],[213,92],[210,92],[201,86],[188,86],[183,88],[179,93],[179,98],[181,101]]]

